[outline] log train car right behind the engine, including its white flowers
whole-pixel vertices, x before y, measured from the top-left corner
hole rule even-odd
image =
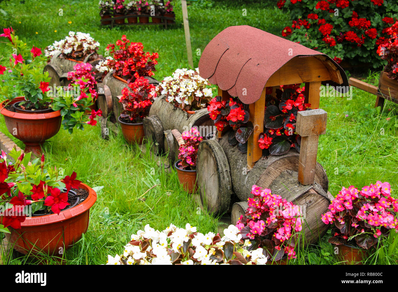
[[[160,98],[151,106],[149,116],[144,119],[145,136],[152,143],[155,154],[167,153],[170,164],[175,162],[178,143],[166,131],[176,129],[179,133],[197,127],[201,136],[213,130],[214,123],[207,115],[206,105],[212,99],[212,90],[198,70],[177,69],[165,77],[156,87]],[[167,151],[166,151],[167,148]]]

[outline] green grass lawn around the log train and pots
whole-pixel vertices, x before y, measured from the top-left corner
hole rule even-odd
[[[69,31],[82,31],[99,41],[100,53],[104,53],[106,44],[115,43],[125,34],[131,41],[142,42],[145,50],[159,53],[154,77],[161,80],[175,69],[187,67],[181,7],[178,1],[174,2],[176,25],[168,30],[101,27],[97,1],[9,1],[2,5],[0,23],[2,27],[12,26],[29,46],[41,48],[64,38]],[[197,49],[202,52],[228,26],[247,24],[280,35],[281,29],[289,25],[288,15],[275,8],[275,1],[231,2],[201,0],[188,7],[195,66],[200,58]],[[244,9],[246,16],[242,15]],[[9,54],[6,50],[8,47],[0,43],[1,62]],[[378,84],[377,72],[365,77],[367,82]],[[393,193],[398,189],[398,105],[386,101],[380,112],[374,103],[375,96],[359,89],[353,90],[352,100],[321,98],[320,108],[328,112],[328,124],[326,135],[320,137],[318,162],[326,169],[333,195],[343,186],[362,188],[376,180],[390,182]],[[0,131],[9,135],[3,116]],[[22,146],[20,141],[18,145]],[[70,264],[104,263],[108,254],[120,253],[130,234],[145,224],[161,230],[170,223],[182,227],[189,222],[203,233],[217,230],[219,221],[197,213],[197,205],[181,190],[175,173],[166,174],[153,157],[143,154],[137,146],[125,145],[122,137],[102,140],[99,127],[88,126],[72,135],[60,130],[44,149],[48,166],[62,167],[66,174],[75,170],[78,179],[86,184],[103,186],[91,209],[88,232],[66,253]],[[157,184],[160,186],[141,199],[146,190]],[[396,253],[391,257],[393,262],[397,260]],[[35,261],[21,257],[13,263],[21,262]],[[327,237],[316,246],[299,250],[297,260],[291,263],[308,262],[337,263]],[[372,257],[367,263],[370,262],[380,263],[380,258]]]

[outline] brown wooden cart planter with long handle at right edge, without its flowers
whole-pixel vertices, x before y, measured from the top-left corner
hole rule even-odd
[[[376,95],[375,107],[383,108],[384,100],[398,103],[398,80],[388,78],[387,72],[380,73],[378,87],[352,77],[349,79],[349,84]]]

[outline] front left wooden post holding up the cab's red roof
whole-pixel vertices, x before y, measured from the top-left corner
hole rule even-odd
[[[248,139],[248,170],[263,156],[263,150],[258,146],[258,135],[264,130],[265,87],[258,101],[249,105],[249,121],[253,123],[253,133]]]

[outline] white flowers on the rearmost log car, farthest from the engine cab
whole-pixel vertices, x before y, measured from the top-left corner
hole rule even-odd
[[[86,54],[89,50],[98,50],[100,43],[94,41],[90,37],[90,33],[81,33],[78,31],[70,31],[68,36],[60,41],[55,41],[52,45],[45,49],[46,56],[53,56],[55,51],[60,50],[64,54],[69,54],[76,50],[82,50],[83,54]]]

